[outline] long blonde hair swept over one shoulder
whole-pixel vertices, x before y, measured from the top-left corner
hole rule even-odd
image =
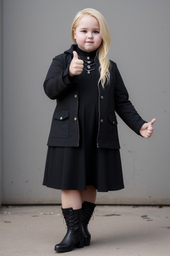
[[[78,23],[84,15],[90,15],[96,18],[100,26],[100,35],[102,37],[102,43],[97,53],[98,59],[100,62],[100,68],[99,68],[100,79],[98,83],[100,83],[101,81],[102,87],[104,87],[104,84],[106,82],[109,83],[110,81],[110,61],[108,59],[108,50],[109,50],[110,41],[111,41],[110,31],[108,29],[108,24],[106,23],[106,20],[104,19],[104,16],[102,15],[102,13],[100,13],[95,9],[84,9],[77,13],[76,17],[72,22],[71,37],[74,43],[76,43],[76,40],[74,39],[74,31],[76,27],[78,27]]]

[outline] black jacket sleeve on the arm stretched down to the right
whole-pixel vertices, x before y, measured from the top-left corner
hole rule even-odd
[[[115,107],[116,112],[122,118],[122,120],[128,125],[135,133],[139,134],[139,130],[144,121],[133,107],[131,101],[129,101],[129,94],[124,85],[124,81],[120,75],[120,71],[116,67],[116,87],[115,87]]]

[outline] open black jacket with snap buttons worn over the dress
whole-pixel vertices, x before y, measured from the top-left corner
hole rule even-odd
[[[70,78],[68,69],[72,61],[72,45],[68,51],[52,60],[52,64],[44,81],[44,91],[50,99],[56,99],[56,109],[52,117],[48,146],[78,147],[78,89],[76,76]],[[99,63],[97,63],[99,67]],[[98,85],[99,91],[99,127],[96,147],[119,149],[118,122],[116,113],[124,122],[139,134],[139,129],[145,123],[129,101],[128,91],[124,85],[116,63],[110,61],[110,83]]]

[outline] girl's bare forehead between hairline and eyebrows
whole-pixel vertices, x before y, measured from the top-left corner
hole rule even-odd
[[[78,22],[78,27],[95,27],[96,29],[100,28],[98,20],[90,15],[84,15],[80,18]]]

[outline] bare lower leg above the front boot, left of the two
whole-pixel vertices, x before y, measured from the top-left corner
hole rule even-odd
[[[61,191],[62,208],[70,208],[76,210],[82,208],[82,199],[78,190],[62,190]]]

